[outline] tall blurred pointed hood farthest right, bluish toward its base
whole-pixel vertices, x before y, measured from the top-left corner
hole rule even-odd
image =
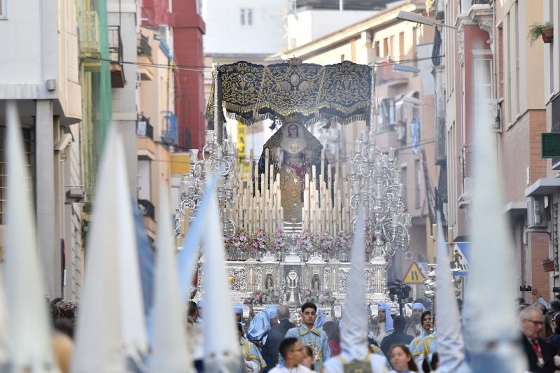
[[[479,372],[524,372],[519,325],[514,307],[515,246],[507,230],[501,198],[500,172],[491,132],[489,97],[476,92],[474,178],[470,213],[470,273],[465,295],[465,340],[471,367]],[[490,311],[491,309],[491,311]]]

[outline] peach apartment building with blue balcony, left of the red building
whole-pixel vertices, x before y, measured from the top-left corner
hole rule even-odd
[[[174,114],[176,68],[169,28],[141,27],[138,36],[137,199],[148,237],[155,240],[161,188],[170,188],[171,154],[179,143]]]

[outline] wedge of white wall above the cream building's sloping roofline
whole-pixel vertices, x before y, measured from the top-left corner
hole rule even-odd
[[[288,15],[288,49],[314,41],[337,29],[371,17],[373,10],[301,10]]]

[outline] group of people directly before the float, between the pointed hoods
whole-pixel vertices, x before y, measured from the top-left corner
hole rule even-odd
[[[328,372],[325,362],[340,358],[340,328],[344,321],[329,319],[316,304],[308,302],[298,310],[299,326],[294,323],[295,313],[290,314],[290,309],[283,305],[266,307],[250,323],[244,323],[241,304],[236,304],[233,311],[247,372]],[[407,318],[393,315],[392,311],[387,304],[379,303],[377,316],[371,316],[367,325],[369,349],[382,359],[381,372],[435,371],[437,353],[430,311],[421,303],[412,305],[412,315]],[[202,335],[196,331],[201,323],[202,302],[190,302],[191,337]],[[194,346],[201,344],[200,340],[193,342]],[[195,349],[192,352],[195,366],[202,371],[202,354]]]

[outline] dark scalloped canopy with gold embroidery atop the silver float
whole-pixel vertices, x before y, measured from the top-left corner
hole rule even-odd
[[[321,66],[297,59],[263,66],[240,61],[218,67],[221,105],[246,125],[264,120],[319,119],[341,124],[366,120],[371,101],[371,67],[344,61]],[[207,110],[214,106],[214,85]]]

